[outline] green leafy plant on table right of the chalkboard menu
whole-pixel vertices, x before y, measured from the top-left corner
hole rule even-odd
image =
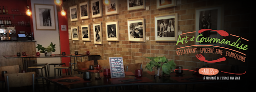
[[[169,75],[171,69],[175,69],[176,64],[173,60],[168,61],[164,56],[163,57],[146,57],[151,61],[146,63],[145,69],[152,72],[154,67],[154,73],[156,76],[161,76],[163,73]]]

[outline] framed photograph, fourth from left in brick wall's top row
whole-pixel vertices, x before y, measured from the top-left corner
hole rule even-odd
[[[105,5],[105,15],[118,14],[118,0],[110,0],[109,5]]]

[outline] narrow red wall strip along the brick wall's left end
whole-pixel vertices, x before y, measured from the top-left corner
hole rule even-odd
[[[65,10],[66,11],[66,10]],[[61,25],[66,25],[66,31],[61,31]],[[59,40],[60,40],[60,51],[65,52],[69,55],[69,40],[68,40],[68,29],[67,29],[67,16],[62,16],[60,11],[58,12],[58,29],[59,29]],[[61,58],[62,63],[69,65],[70,58]],[[62,70],[65,73],[65,70]]]

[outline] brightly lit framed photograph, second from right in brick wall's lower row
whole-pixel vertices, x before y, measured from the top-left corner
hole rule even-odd
[[[144,18],[127,19],[129,41],[145,41]]]

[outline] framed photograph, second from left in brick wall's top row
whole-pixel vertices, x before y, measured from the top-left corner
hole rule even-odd
[[[80,19],[87,19],[89,17],[89,3],[88,1],[82,2],[79,4],[80,6]]]

